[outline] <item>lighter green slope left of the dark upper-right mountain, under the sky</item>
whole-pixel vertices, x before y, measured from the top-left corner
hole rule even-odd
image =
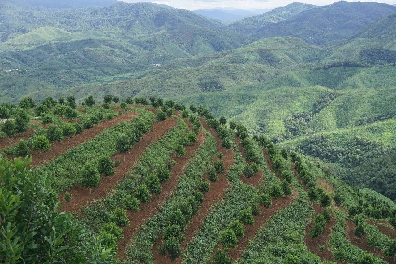
[[[291,17],[301,13],[301,11],[314,7],[316,6],[296,2],[284,7],[275,8],[267,13],[236,21],[228,25],[227,28],[244,34],[255,34],[265,25],[290,19]]]

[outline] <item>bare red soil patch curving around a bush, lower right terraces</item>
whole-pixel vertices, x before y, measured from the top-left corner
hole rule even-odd
[[[326,260],[331,260],[334,261],[334,256],[333,254],[327,249],[327,241],[330,239],[331,235],[331,229],[335,225],[335,214],[331,212],[331,215],[333,218],[326,224],[326,228],[323,231],[323,233],[319,237],[309,237],[309,231],[311,230],[313,226],[313,221],[314,218],[317,214],[320,214],[323,212],[324,208],[320,207],[317,203],[311,203],[314,206],[315,214],[312,216],[311,222],[308,226],[305,227],[305,237],[304,237],[304,243],[307,245],[308,249],[318,255],[322,261]],[[319,250],[319,246],[325,246],[324,251]]]

